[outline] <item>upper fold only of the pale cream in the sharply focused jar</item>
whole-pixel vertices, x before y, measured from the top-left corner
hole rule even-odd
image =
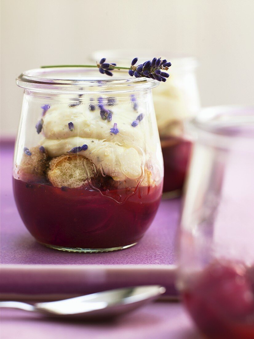
[[[129,106],[129,107],[128,107]],[[69,107],[68,104],[53,106],[43,118],[43,133],[46,139],[66,139],[71,137],[106,139],[111,138],[114,142],[133,143],[144,145],[144,136],[142,126],[132,127],[132,122],[136,120],[141,112],[132,109],[131,103],[119,106],[107,107],[111,109],[112,120],[102,120],[100,111],[90,112],[88,105],[80,104],[76,107]],[[74,125],[73,131],[70,131],[68,123]],[[117,123],[119,133],[112,135],[110,128]],[[145,124],[145,121],[140,124]]]

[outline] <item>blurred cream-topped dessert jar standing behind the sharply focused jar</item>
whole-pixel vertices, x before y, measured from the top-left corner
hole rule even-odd
[[[139,57],[140,64],[158,56],[158,52],[151,50],[134,54],[129,50],[97,51],[91,59],[98,61],[105,57],[109,62],[129,67],[134,57]],[[164,161],[163,192],[167,192],[165,197],[175,197],[181,194],[191,151],[183,124],[200,110],[195,73],[198,63],[192,57],[170,58],[169,55],[167,59],[172,63],[168,71],[170,76],[165,83],[153,88],[153,98]]]

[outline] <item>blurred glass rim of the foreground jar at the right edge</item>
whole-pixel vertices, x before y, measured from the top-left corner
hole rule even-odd
[[[211,106],[187,123],[187,130],[203,142],[230,147],[234,140],[250,145],[254,143],[254,107]]]

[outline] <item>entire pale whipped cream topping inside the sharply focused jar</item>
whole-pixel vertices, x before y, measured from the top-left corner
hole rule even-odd
[[[92,160],[102,173],[119,181],[142,178],[147,162],[153,163],[155,168],[161,167],[156,159],[159,137],[155,115],[149,116],[145,107],[134,111],[130,101],[106,108],[113,112],[110,122],[101,118],[98,107],[91,112],[89,103],[75,107],[69,107],[68,103],[52,106],[43,117],[45,138],[41,145],[50,157],[57,157],[85,144],[87,150],[78,154]],[[132,122],[141,113],[144,118],[133,127]],[[74,126],[72,131],[68,126],[70,122]],[[117,134],[110,132],[114,123],[119,129]]]

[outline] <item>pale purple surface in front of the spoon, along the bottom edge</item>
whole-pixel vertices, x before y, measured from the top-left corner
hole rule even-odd
[[[45,319],[19,310],[1,311],[3,339],[199,339],[180,303],[156,302],[101,323]]]

